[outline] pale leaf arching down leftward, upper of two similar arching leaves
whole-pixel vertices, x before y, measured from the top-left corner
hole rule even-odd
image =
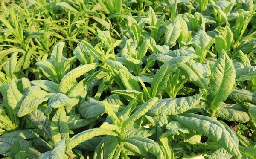
[[[89,72],[92,69],[96,69],[99,64],[92,63],[92,64],[85,64],[79,67],[76,67],[75,69],[72,69],[72,71],[68,72],[64,77],[61,79],[59,91],[62,93],[67,93],[71,87],[73,87],[73,82],[76,82],[76,78],[80,77],[86,72]]]

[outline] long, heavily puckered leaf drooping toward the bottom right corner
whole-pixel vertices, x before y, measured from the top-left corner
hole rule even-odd
[[[225,129],[225,127],[223,128],[220,126],[220,123],[218,121],[206,116],[203,116],[204,118],[202,118],[207,120],[200,119],[201,115],[188,114],[188,117],[186,116],[187,113],[183,113],[182,115],[172,116],[172,118],[179,121],[186,127],[189,127],[197,131],[198,133],[207,136],[212,141],[218,142],[225,150],[227,150],[234,157],[241,157],[238,145],[236,145],[236,142],[230,136],[230,133]],[[199,117],[199,119],[197,117]]]

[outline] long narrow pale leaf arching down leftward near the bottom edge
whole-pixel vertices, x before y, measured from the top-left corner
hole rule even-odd
[[[94,136],[101,136],[101,135],[117,136],[117,133],[104,130],[101,128],[93,128],[93,129],[85,130],[81,133],[76,134],[75,136],[73,136],[67,141],[66,152],[70,154],[72,153],[72,148],[74,148],[76,145],[79,145],[81,142],[89,140]]]

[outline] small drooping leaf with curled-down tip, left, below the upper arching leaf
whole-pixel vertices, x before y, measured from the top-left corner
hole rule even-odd
[[[67,95],[58,93],[52,96],[52,98],[48,102],[47,108],[44,110],[44,113],[49,116],[52,112],[52,108],[60,108],[65,107],[69,104],[72,104],[72,100],[67,97]]]

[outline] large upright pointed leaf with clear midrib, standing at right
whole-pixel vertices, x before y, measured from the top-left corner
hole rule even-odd
[[[209,108],[215,110],[225,101],[235,84],[235,68],[227,53],[222,50],[220,57],[212,67],[207,102]]]

